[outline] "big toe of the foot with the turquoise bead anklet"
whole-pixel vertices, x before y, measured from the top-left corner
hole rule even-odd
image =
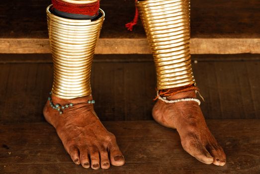
[[[125,159],[122,152],[116,143],[109,148],[110,162],[113,166],[123,166],[125,164]]]

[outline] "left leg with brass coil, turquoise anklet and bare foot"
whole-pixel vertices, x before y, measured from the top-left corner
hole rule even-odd
[[[122,166],[115,136],[98,119],[91,96],[91,63],[104,12],[99,10],[91,21],[77,20],[52,7],[47,8],[47,17],[54,81],[43,110],[45,119],[56,128],[75,164],[92,169]]]

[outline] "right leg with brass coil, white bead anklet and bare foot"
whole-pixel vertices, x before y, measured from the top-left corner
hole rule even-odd
[[[189,0],[138,1],[152,49],[159,100],[154,119],[178,131],[183,149],[202,163],[223,166],[226,155],[210,133],[196,99],[189,52]]]

